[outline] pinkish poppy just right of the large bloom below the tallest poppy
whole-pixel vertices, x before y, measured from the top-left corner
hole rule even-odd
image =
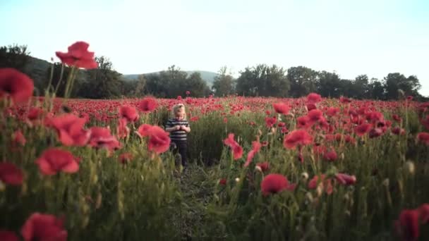
[[[109,128],[90,128],[90,147],[106,148],[109,151],[121,148],[121,143],[111,135]]]

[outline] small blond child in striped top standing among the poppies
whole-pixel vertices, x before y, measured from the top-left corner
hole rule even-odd
[[[186,140],[186,135],[191,132],[191,128],[186,120],[185,106],[183,104],[176,104],[173,106],[173,116],[174,118],[167,121],[165,130],[170,132],[171,142],[176,144],[176,147],[179,149],[179,154],[182,158],[182,166],[186,168],[188,166],[188,157],[186,155],[188,142]]]

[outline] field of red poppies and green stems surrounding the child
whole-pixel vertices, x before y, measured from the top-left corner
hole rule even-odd
[[[0,69],[0,240],[429,239],[429,103],[32,86]],[[178,103],[186,171],[164,131]]]

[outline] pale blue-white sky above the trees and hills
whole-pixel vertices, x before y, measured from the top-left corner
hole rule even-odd
[[[416,75],[429,96],[426,0],[0,0],[0,45],[49,60],[76,41],[123,74],[182,70],[234,76],[259,63],[341,78]]]

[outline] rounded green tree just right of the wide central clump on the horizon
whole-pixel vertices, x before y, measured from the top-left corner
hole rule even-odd
[[[287,78],[291,83],[289,93],[292,97],[303,97],[316,92],[318,72],[304,66],[291,67],[287,70]]]

